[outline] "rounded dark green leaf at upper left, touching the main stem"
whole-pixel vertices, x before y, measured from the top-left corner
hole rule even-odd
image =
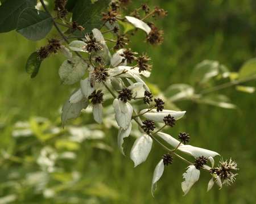
[[[27,8],[18,20],[16,31],[29,40],[41,40],[51,31],[53,20],[47,12]]]

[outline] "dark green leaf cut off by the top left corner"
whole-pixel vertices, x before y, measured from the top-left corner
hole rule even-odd
[[[0,33],[16,29],[19,15],[25,9],[34,7],[36,0],[8,0],[0,6]]]

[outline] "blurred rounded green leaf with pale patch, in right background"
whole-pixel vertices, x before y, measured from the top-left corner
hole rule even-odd
[[[196,65],[192,73],[193,82],[207,83],[210,78],[217,76],[220,64],[217,61],[204,60]]]

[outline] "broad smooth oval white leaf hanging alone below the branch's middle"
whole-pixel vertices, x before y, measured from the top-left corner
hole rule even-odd
[[[133,144],[130,158],[134,162],[134,167],[146,161],[152,147],[152,139],[147,134],[142,135]]]

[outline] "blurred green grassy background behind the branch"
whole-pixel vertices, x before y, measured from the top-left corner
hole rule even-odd
[[[134,1],[133,7],[140,3]],[[238,71],[243,62],[255,57],[254,0],[152,0],[148,3],[159,5],[169,12],[167,18],[158,23],[164,29],[165,41],[162,46],[149,46],[142,42],[144,33],[139,32],[139,37],[133,37],[130,45],[138,52],[147,50],[154,65],[148,82],[156,84],[160,90],[166,90],[173,83],[189,84],[193,67],[203,59],[217,60],[231,71]],[[56,36],[57,33],[52,35]],[[44,44],[44,40],[31,42],[14,31],[1,34],[0,149],[17,157],[0,159],[1,198],[15,194],[13,203],[67,203],[68,198],[74,198],[73,203],[255,203],[256,97],[255,94],[237,92],[234,88],[220,91],[219,94],[228,95],[238,109],[221,109],[182,101],[177,104],[187,111],[186,117],[169,131],[174,136],[179,131],[187,131],[192,138],[191,145],[209,148],[220,152],[224,158],[232,156],[237,160],[240,171],[234,185],[225,186],[222,190],[214,186],[206,193],[209,175],[202,172],[200,181],[187,196],[182,197],[180,182],[186,165],[174,160],[174,165],[165,169],[158,182],[155,198],[152,198],[152,172],[163,150],[154,145],[147,161],[133,168],[129,157],[124,157],[118,151],[117,130],[106,130],[104,143],[112,151],[94,148],[92,141],[68,146],[63,139],[53,138],[56,139],[56,148],[64,145],[68,146],[65,147],[68,150],[76,151],[76,160],[60,161],[60,165],[67,172],[80,172],[82,179],[79,185],[67,185],[72,174],[56,173],[51,175],[51,186],[54,186],[57,196],[47,199],[36,193],[26,184],[25,175],[39,170],[35,164],[31,165],[30,160],[48,143],[40,140],[40,134],[34,136],[39,141],[35,145],[35,139],[13,138],[13,126],[20,120],[30,120],[35,124],[31,119],[35,116],[47,117],[52,124],[59,125],[58,110],[72,91],[72,87],[64,86],[59,79],[58,68],[64,60],[61,55],[44,60],[40,74],[34,79],[24,71],[27,57]],[[255,81],[247,84],[256,86]],[[83,114],[76,124],[90,124],[90,117]],[[133,138],[126,139],[126,153],[133,141]],[[22,148],[24,150],[20,151]],[[15,173],[23,180],[15,180]],[[22,188],[11,187],[12,182],[17,182]],[[75,202],[75,198],[78,202]]]

